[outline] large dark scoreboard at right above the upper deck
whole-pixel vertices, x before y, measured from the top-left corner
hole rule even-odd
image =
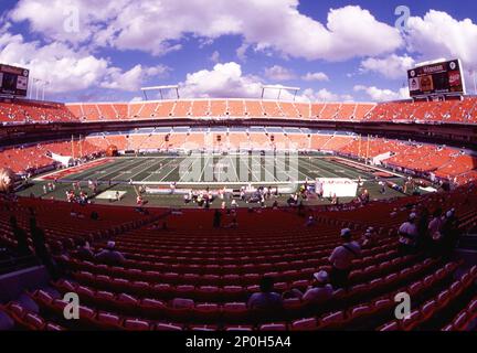
[[[411,97],[465,95],[465,81],[459,60],[418,66],[407,71]]]

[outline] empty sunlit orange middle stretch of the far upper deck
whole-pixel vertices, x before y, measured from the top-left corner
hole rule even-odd
[[[129,104],[67,104],[83,121],[169,117],[258,117],[289,119],[362,120],[374,104],[311,104],[252,99],[180,99]]]

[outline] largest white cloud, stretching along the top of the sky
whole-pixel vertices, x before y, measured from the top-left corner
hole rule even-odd
[[[327,23],[298,11],[298,0],[70,0],[80,31],[65,31],[72,13],[60,0],[20,0],[11,18],[29,21],[51,39],[156,55],[181,49],[188,34],[241,35],[255,50],[293,57],[340,61],[391,53],[403,45],[399,31],[358,6],[331,9]],[[265,15],[263,15],[265,14]],[[244,47],[240,51],[244,54]]]

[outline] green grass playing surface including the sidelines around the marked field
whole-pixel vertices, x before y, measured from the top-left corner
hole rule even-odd
[[[294,159],[295,158],[295,159]],[[98,182],[97,194],[105,191],[124,192],[121,201],[114,202],[120,205],[134,205],[136,201],[135,186],[160,186],[177,183],[177,188],[188,189],[239,189],[243,185],[275,186],[293,185],[298,188],[306,180],[315,181],[317,178],[348,178],[361,179],[363,188],[368,189],[372,199],[385,199],[403,196],[394,190],[388,189],[385,194],[379,192],[373,171],[361,171],[353,167],[343,165],[329,160],[325,156],[218,156],[218,154],[191,154],[191,156],[139,156],[118,157],[105,160],[105,163],[88,167],[84,164],[81,170],[61,170],[59,173],[40,175],[34,179],[32,186],[20,192],[22,195],[33,194],[42,197],[65,200],[65,192],[72,189],[73,182],[80,182],[82,190],[87,189],[88,180]],[[46,179],[44,179],[46,178]],[[50,178],[50,180],[47,180]],[[55,191],[43,192],[43,185],[57,178]],[[391,178],[398,184],[403,183],[400,176]],[[279,203],[285,203],[288,195],[278,197]],[[183,206],[181,195],[155,195],[145,196],[151,206]],[[97,203],[108,203],[108,200],[92,197]],[[349,202],[351,197],[343,197],[341,202]],[[273,201],[269,201],[272,204]],[[309,204],[324,204],[329,201],[309,201]],[[242,205],[242,204],[240,204]],[[189,205],[191,206],[191,205]],[[193,206],[193,205],[192,205]],[[215,203],[212,206],[220,206]],[[243,205],[245,206],[245,204]],[[248,205],[246,205],[248,206]]]

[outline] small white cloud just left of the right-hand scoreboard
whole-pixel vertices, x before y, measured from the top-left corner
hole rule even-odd
[[[361,72],[377,72],[391,79],[405,78],[407,69],[415,65],[414,58],[409,55],[391,54],[385,57],[369,57],[361,62]]]

